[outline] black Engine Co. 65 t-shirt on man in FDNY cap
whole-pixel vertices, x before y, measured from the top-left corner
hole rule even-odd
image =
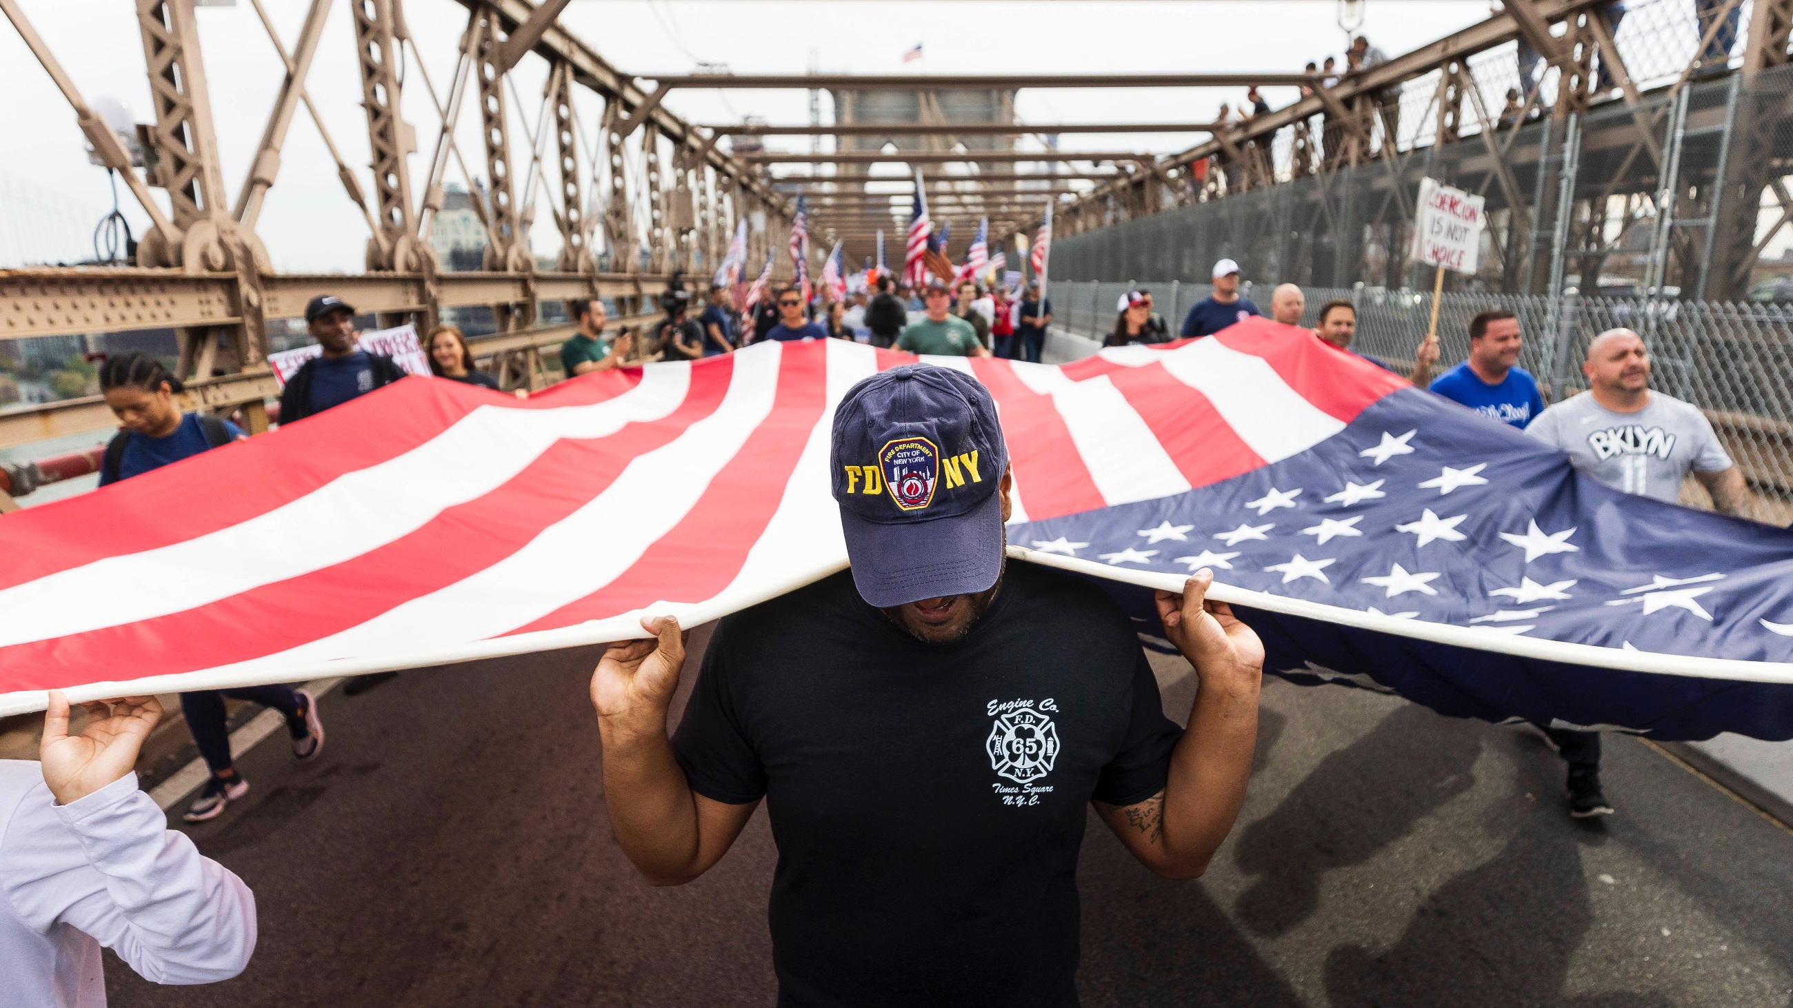
[[[672,748],[696,793],[767,798],[782,1006],[1074,1006],[1085,805],[1164,787],[1182,728],[1126,615],[1009,563],[922,644],[852,572],[723,619]]]

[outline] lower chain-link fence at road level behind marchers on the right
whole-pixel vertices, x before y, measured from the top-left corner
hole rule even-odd
[[[1121,296],[1153,294],[1174,334],[1183,314],[1207,298],[1205,283],[1052,282],[1052,323],[1072,335],[1101,341],[1113,332]],[[1268,283],[1241,292],[1269,314]],[[1425,337],[1433,296],[1382,287],[1307,287],[1302,325],[1318,325],[1320,305],[1339,298],[1357,308],[1352,350],[1377,357],[1406,375]],[[1782,305],[1675,301],[1666,298],[1542,298],[1528,294],[1445,294],[1438,303],[1434,373],[1468,357],[1468,321],[1503,308],[1519,317],[1526,344],[1519,364],[1537,375],[1547,400],[1583,391],[1587,344],[1608,328],[1644,335],[1651,353],[1653,389],[1705,411],[1732,457],[1763,499],[1759,517],[1793,522],[1793,308]],[[1555,389],[1555,393],[1553,393]],[[1702,502],[1689,486],[1689,500]]]

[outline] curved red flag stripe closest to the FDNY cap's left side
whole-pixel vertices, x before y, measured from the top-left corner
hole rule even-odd
[[[572,626],[656,601],[697,603],[726,588],[778,511],[827,405],[827,353],[812,350],[782,357],[773,411],[667,534],[610,585],[511,633]]]

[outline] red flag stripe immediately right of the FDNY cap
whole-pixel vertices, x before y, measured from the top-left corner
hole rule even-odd
[[[1009,447],[1009,465],[1020,484],[1027,520],[1056,518],[1106,508],[1090,470],[1078,454],[1065,418],[1052,396],[1040,395],[1015,377],[1009,361],[972,357],[972,371],[997,400],[997,416]]]

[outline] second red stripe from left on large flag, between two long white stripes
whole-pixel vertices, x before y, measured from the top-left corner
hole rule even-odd
[[[663,420],[628,423],[608,438],[558,441],[491,493],[446,508],[409,536],[353,560],[179,613],[0,647],[0,692],[190,673],[274,655],[470,578],[588,504],[638,456],[715,413],[733,362],[714,361],[692,369],[685,402]],[[131,656],[127,669],[118,665],[120,655]],[[70,674],[82,667],[93,674]]]

